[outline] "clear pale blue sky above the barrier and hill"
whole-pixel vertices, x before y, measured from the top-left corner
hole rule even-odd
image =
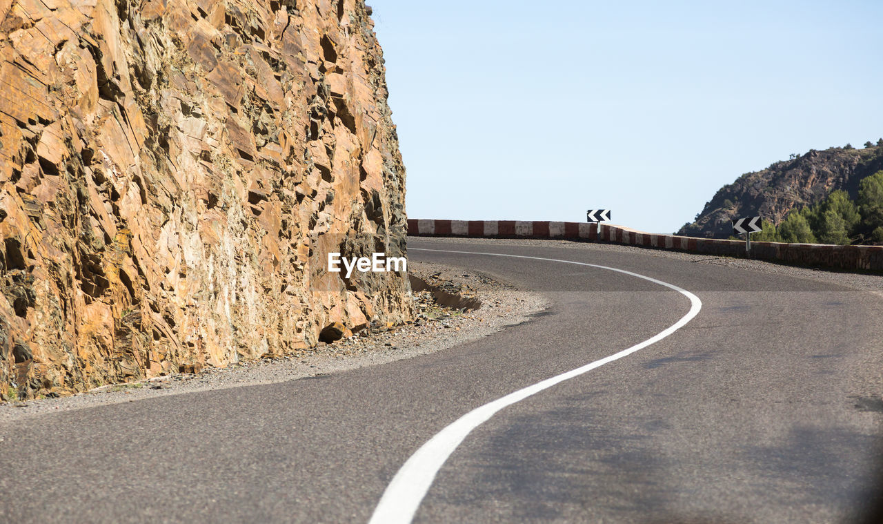
[[[368,0],[411,218],[673,232],[791,153],[883,137],[883,2]]]

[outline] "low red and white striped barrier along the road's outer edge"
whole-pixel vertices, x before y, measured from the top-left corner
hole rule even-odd
[[[745,251],[742,240],[698,239],[677,235],[638,232],[612,224],[521,220],[408,220],[413,236],[583,239],[659,249],[676,249],[702,254],[750,257],[837,270],[883,271],[883,246],[830,246],[751,242]]]

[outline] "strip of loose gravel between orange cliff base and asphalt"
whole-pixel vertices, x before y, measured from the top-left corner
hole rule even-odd
[[[400,361],[523,323],[532,313],[548,306],[539,293],[518,291],[478,271],[426,262],[409,261],[408,266],[411,275],[445,292],[477,298],[481,307],[471,311],[447,308],[435,302],[432,292],[415,292],[413,299],[420,313],[414,323],[373,323],[353,337],[333,344],[321,344],[284,357],[242,361],[227,368],[205,368],[195,375],[157,376],[140,382],[109,384],[71,397],[0,404],[0,422],[164,395],[273,384]]]

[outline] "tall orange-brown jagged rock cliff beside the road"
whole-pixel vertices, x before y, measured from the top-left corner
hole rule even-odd
[[[0,395],[224,366],[412,315],[362,0],[0,0]],[[322,234],[328,233],[328,234]]]

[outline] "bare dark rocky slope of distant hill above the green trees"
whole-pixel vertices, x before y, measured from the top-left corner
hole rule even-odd
[[[813,150],[721,187],[696,221],[677,234],[726,239],[733,234],[730,222],[742,216],[763,216],[778,224],[792,208],[821,201],[837,189],[855,199],[858,181],[880,169],[883,147]]]

